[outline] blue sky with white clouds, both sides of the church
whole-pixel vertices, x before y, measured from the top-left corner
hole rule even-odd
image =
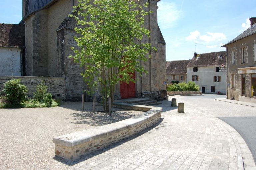
[[[0,0],[0,23],[18,24],[22,0]],[[166,42],[166,61],[189,60],[221,47],[250,27],[256,0],[161,0],[158,24]]]

